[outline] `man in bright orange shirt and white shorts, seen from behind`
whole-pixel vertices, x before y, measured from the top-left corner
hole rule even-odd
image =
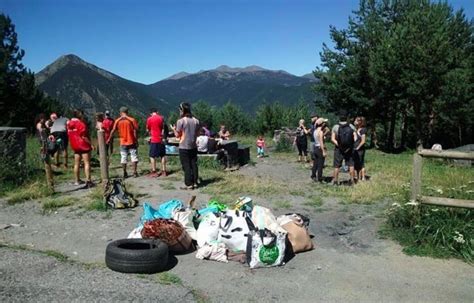
[[[138,123],[137,120],[128,115],[128,108],[122,106],[120,108],[120,117],[115,120],[114,128],[110,133],[107,144],[110,143],[115,131],[118,129],[120,137],[120,163],[123,167],[123,177],[127,178],[127,158],[130,154],[133,167],[133,176],[138,177]]]

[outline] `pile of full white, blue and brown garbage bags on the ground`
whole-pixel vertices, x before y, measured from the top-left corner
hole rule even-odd
[[[232,206],[211,200],[197,210],[195,198],[187,206],[171,200],[157,209],[144,203],[140,223],[128,238],[160,239],[175,253],[196,250],[198,259],[238,261],[251,268],[280,266],[314,248],[304,215],[275,217],[249,197],[238,198]]]

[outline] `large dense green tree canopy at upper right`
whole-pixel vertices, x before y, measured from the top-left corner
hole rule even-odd
[[[331,27],[315,90],[372,122],[388,149],[473,142],[474,23],[430,0],[361,0]]]

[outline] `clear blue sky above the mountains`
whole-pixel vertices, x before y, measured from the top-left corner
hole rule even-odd
[[[474,18],[474,0],[448,1]],[[347,27],[358,0],[0,0],[23,63],[39,72],[61,55],[150,84],[219,65],[295,75],[320,65],[330,25]]]

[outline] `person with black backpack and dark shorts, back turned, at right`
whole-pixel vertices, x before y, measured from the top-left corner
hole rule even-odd
[[[339,114],[339,123],[334,125],[331,141],[334,143],[334,177],[332,183],[338,185],[339,170],[344,160],[349,166],[350,184],[354,183],[354,158],[353,149],[356,140],[355,127],[347,119],[347,113]]]

